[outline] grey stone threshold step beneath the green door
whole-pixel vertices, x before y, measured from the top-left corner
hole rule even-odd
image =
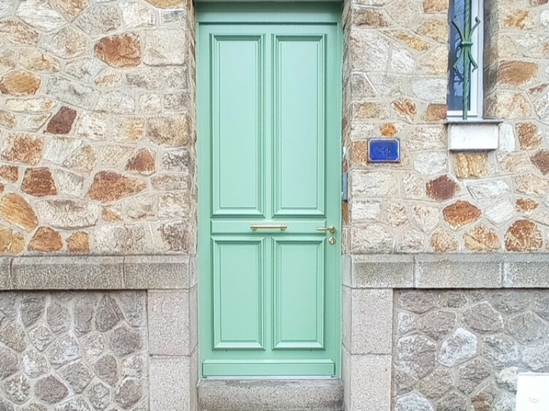
[[[198,411],[342,411],[341,379],[198,381]]]

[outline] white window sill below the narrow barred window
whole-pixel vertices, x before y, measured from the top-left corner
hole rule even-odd
[[[449,117],[449,151],[491,151],[498,149],[499,127],[502,120]]]

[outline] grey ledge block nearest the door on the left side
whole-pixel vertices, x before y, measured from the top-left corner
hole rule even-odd
[[[126,286],[139,289],[187,288],[189,257],[126,256]]]

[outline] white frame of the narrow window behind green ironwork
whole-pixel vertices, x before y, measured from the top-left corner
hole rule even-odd
[[[482,0],[471,0],[471,22],[474,25],[476,17],[479,18],[480,24],[473,33],[473,47],[471,47],[471,54],[478,64],[478,69],[471,71],[471,88],[469,90],[471,95],[471,108],[467,110],[467,118],[471,120],[482,119],[482,102],[484,99],[483,90],[483,73],[482,73],[482,55],[484,52],[484,9]],[[452,21],[449,19],[448,23],[452,25]],[[451,39],[449,38],[448,41]],[[449,82],[450,69],[448,67],[447,77]],[[447,96],[448,96],[447,88]],[[458,119],[463,117],[463,110],[447,110],[446,114],[448,119]]]

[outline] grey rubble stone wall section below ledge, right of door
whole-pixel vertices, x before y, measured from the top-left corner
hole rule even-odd
[[[395,411],[514,410],[517,373],[548,372],[548,290],[395,292]]]

